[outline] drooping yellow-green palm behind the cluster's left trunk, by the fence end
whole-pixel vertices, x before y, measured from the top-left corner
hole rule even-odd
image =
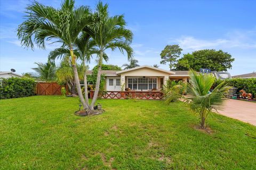
[[[77,64],[77,72],[79,79],[83,78],[83,65]],[[66,55],[62,58],[60,65],[57,67],[56,75],[58,78],[58,81],[61,83],[68,84],[68,87],[70,89],[70,92],[72,95],[76,95],[76,83],[74,80],[74,72],[71,65],[70,56]]]

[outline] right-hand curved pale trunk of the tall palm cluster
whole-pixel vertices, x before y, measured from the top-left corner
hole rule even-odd
[[[102,65],[102,57],[103,57],[103,52],[100,52],[100,59],[99,59],[99,68],[98,68],[98,74],[97,74],[97,81],[96,81],[96,86],[95,86],[95,91],[92,99],[92,103],[90,105],[90,109],[93,111],[94,104],[98,98],[99,90],[100,90],[100,76],[101,76],[101,65]]]

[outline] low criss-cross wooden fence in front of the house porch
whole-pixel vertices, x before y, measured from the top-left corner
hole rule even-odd
[[[93,98],[94,91],[90,91],[90,98]],[[106,91],[99,95],[103,99],[153,99],[163,98],[160,91]]]

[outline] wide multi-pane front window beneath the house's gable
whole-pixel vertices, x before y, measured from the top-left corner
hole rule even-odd
[[[151,90],[156,84],[157,78],[128,78],[128,87],[132,90]]]

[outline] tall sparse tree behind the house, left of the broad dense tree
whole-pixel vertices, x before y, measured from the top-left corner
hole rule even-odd
[[[174,63],[177,61],[177,58],[180,56],[182,49],[179,45],[167,45],[162,50],[160,56],[162,61],[160,64],[170,63],[170,70],[173,69]]]

